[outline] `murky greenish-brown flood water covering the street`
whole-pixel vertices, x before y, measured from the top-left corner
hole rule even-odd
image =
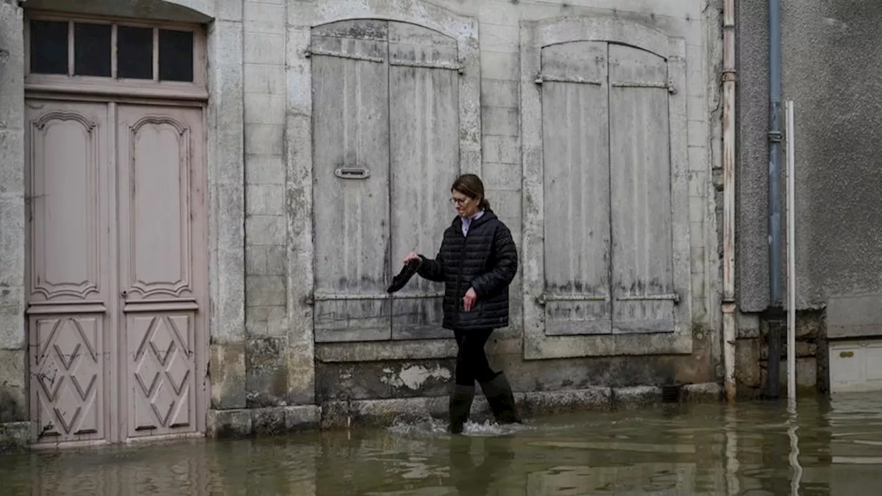
[[[0,455],[0,494],[882,493],[882,394]]]

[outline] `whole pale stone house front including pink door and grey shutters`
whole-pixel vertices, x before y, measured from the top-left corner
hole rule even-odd
[[[440,287],[385,286],[463,172],[518,244],[488,349],[523,408],[717,391],[720,16],[0,2],[0,423],[73,446],[443,415]]]

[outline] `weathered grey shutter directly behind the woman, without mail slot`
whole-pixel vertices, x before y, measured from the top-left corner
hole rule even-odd
[[[392,272],[408,252],[434,256],[453,218],[448,188],[460,173],[456,40],[389,22]],[[431,248],[436,251],[429,252]],[[415,278],[392,298],[392,339],[446,336],[443,285]]]

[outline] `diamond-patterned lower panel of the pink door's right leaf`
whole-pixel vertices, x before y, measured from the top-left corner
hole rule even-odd
[[[170,433],[193,424],[191,315],[131,318],[134,432]]]

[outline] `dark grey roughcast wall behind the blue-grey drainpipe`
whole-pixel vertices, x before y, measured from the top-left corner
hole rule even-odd
[[[766,0],[737,4],[738,295],[742,311],[759,312],[768,303],[768,17]],[[882,293],[880,21],[882,4],[876,2],[781,2],[783,98],[796,103],[801,309]],[[865,312],[859,306],[853,311]]]

